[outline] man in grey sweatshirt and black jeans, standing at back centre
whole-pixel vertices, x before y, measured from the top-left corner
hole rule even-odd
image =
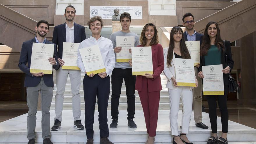
[[[127,12],[124,12],[120,15],[120,22],[122,25],[122,30],[112,33],[110,35],[110,40],[113,43],[113,48],[116,53],[119,53],[122,50],[122,47],[116,47],[116,37],[117,36],[134,36],[134,46],[138,46],[139,37],[136,33],[130,31],[131,15]],[[135,114],[135,80],[136,76],[132,75],[132,69],[128,62],[116,62],[115,68],[112,71],[111,75],[111,84],[112,84],[112,95],[111,95],[111,116],[112,122],[110,128],[116,128],[118,123],[118,105],[119,98],[121,95],[121,88],[123,80],[125,80],[126,88],[126,97],[127,97],[127,119],[128,126],[130,128],[136,128],[137,125],[134,123],[134,114]]]

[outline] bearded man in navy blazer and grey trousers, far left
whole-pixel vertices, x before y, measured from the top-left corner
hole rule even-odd
[[[55,70],[58,70],[59,64],[57,59],[57,49],[56,45],[49,42],[45,35],[49,31],[49,23],[45,20],[41,20],[37,23],[35,27],[37,31],[36,37],[32,40],[23,42],[22,49],[19,58],[19,68],[25,74],[25,84],[27,87],[27,104],[29,107],[29,112],[27,116],[27,128],[29,139],[28,144],[35,143],[35,124],[36,124],[36,113],[38,106],[38,95],[41,94],[42,103],[42,138],[44,144],[52,144],[50,141],[50,106],[53,96],[53,75],[44,74],[43,72],[30,73],[31,55],[32,55],[32,45],[35,43],[45,43],[54,45],[54,55],[53,58],[49,58],[48,61],[53,65]],[[26,64],[28,64],[26,66]]]

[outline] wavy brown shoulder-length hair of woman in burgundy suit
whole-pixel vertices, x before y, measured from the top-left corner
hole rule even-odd
[[[142,31],[141,31],[140,43],[141,43],[141,45],[143,45],[143,46],[146,46],[146,45],[147,45],[147,38],[145,37],[145,32],[146,32],[148,26],[153,26],[154,31],[155,31],[154,36],[153,36],[153,38],[152,38],[152,40],[151,40],[151,42],[150,42],[149,45],[150,45],[150,46],[156,45],[156,44],[158,44],[158,42],[159,42],[158,35],[157,35],[157,32],[158,32],[158,31],[157,31],[156,26],[155,26],[154,24],[152,24],[152,23],[148,23],[148,24],[146,24],[146,25],[143,27],[143,29],[142,29]]]

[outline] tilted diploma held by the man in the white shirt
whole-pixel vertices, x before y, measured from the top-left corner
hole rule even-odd
[[[79,49],[87,75],[106,72],[98,45]]]

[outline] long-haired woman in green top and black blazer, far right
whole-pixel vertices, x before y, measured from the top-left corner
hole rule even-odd
[[[203,78],[202,66],[204,65],[223,65],[224,95],[207,95],[209,105],[209,118],[211,122],[212,136],[208,139],[207,144],[227,144],[227,93],[229,84],[229,73],[234,65],[231,55],[231,47],[229,41],[221,39],[220,29],[216,22],[209,22],[206,25],[205,33],[200,50],[200,68],[198,77]],[[218,139],[217,136],[217,115],[216,115],[216,99],[221,111],[222,134]]]

